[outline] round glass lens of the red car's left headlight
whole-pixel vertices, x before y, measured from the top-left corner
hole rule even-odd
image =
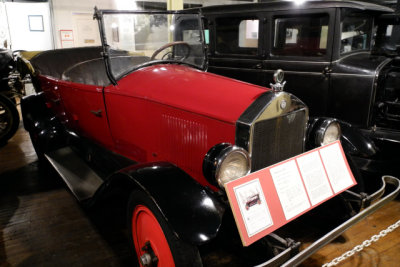
[[[250,157],[246,150],[233,146],[227,147],[219,159],[216,180],[220,187],[250,172]]]

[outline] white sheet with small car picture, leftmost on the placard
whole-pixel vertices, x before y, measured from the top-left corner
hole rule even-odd
[[[252,237],[273,225],[259,179],[238,185],[233,190],[248,237]]]

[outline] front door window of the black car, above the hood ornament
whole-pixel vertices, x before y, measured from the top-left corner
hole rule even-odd
[[[325,55],[328,23],[328,14],[275,18],[272,53],[282,56]]]

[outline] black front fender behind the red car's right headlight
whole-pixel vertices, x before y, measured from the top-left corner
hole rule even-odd
[[[332,120],[332,118],[312,117],[309,119],[307,127],[307,149],[315,148],[313,135],[325,120]],[[340,125],[342,132],[340,141],[346,155],[369,158],[377,153],[375,143],[368,136],[364,135],[360,129],[347,122],[337,119],[334,120]]]

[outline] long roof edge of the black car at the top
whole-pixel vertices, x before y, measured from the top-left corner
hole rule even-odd
[[[279,11],[279,10],[302,10],[313,8],[355,8],[360,10],[369,10],[377,12],[393,12],[393,9],[368,2],[361,1],[306,1],[303,4],[296,4],[294,1],[269,1],[265,3],[249,3],[235,5],[216,5],[202,7],[201,10],[205,14],[227,13],[227,12],[248,12],[248,11]]]

